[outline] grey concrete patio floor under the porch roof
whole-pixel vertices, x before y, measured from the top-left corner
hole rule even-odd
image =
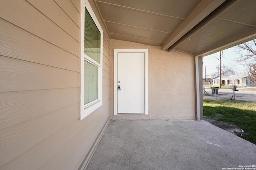
[[[223,170],[245,165],[256,165],[256,145],[207,121],[111,120],[86,170]]]

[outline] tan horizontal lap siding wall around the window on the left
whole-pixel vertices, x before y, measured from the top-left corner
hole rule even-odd
[[[0,169],[78,169],[109,117],[108,34],[103,105],[79,120],[80,0],[2,0],[0,25]]]

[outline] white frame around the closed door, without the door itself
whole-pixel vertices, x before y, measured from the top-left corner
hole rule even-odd
[[[145,96],[144,96],[144,114],[148,114],[148,49],[114,49],[114,115],[117,115],[117,86],[118,86],[118,78],[117,78],[117,58],[118,53],[144,53],[145,59],[144,59],[144,76],[145,76],[145,84],[144,84],[144,90],[145,90]],[[122,113],[125,114],[125,113]],[[128,113],[128,114],[136,114],[136,113]]]

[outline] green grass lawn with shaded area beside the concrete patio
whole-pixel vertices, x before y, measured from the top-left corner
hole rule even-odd
[[[238,136],[256,144],[256,102],[204,99],[203,110],[204,116],[237,125],[248,133]]]

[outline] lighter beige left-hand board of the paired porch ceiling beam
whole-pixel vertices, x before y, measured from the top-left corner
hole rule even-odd
[[[195,27],[200,21],[220,6],[225,0],[202,0],[185,21],[174,31],[162,45],[162,50],[167,50],[183,35]],[[230,0],[228,0],[230,1]],[[232,0],[231,0],[232,1]]]

